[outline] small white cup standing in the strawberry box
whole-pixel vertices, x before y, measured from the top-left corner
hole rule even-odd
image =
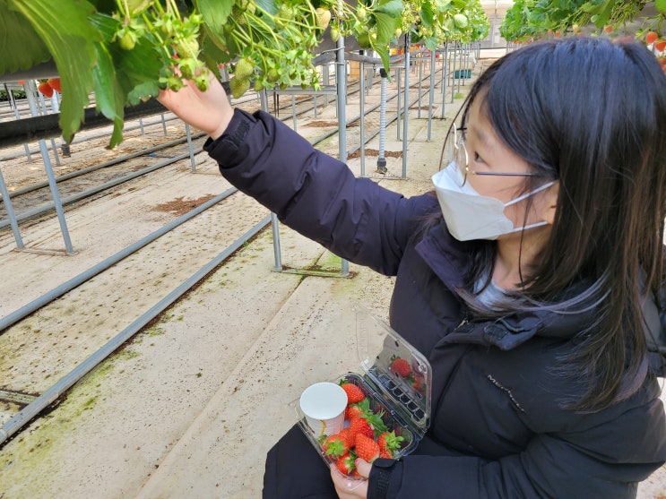
[[[300,409],[317,439],[338,434],[344,426],[347,393],[335,383],[311,384],[300,396]]]

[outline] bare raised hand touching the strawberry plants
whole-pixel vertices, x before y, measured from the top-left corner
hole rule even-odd
[[[178,91],[160,90],[157,99],[184,122],[217,139],[234,113],[221,82],[212,73],[208,90],[197,89],[191,80],[185,82],[186,86]]]

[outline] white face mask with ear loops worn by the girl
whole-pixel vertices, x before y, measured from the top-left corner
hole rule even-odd
[[[497,239],[503,234],[548,225],[547,221],[541,221],[515,228],[514,223],[506,218],[504,209],[548,189],[555,182],[541,185],[538,189],[504,203],[494,197],[482,196],[472,188],[469,182],[461,187],[462,176],[463,172],[454,162],[432,176],[432,183],[435,185],[437,200],[439,200],[439,206],[444,214],[446,227],[459,241]]]

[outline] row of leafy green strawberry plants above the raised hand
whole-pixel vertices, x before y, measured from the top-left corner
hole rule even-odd
[[[122,141],[125,106],[184,79],[205,89],[228,65],[232,93],[301,85],[318,89],[316,47],[350,36],[385,67],[400,36],[468,42],[488,33],[479,0],[0,0],[0,74],[53,62],[62,81],[60,128],[79,129],[89,95]]]

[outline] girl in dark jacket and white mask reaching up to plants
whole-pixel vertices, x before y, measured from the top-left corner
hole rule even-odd
[[[391,325],[432,366],[415,452],[357,460],[369,479],[351,488],[292,428],[265,497],[625,498],[666,460],[666,76],[645,47],[563,39],[498,60],[449,133],[436,195],[411,199],[234,112],[219,85],[160,101],[285,224],[395,275]]]

